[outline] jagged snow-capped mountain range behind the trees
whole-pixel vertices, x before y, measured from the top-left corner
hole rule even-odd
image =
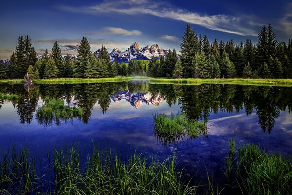
[[[96,55],[99,55],[99,50],[94,52]],[[152,57],[159,59],[160,56],[166,56],[168,50],[162,49],[158,44],[152,46],[147,45],[146,47],[140,47],[138,42],[134,42],[130,48],[122,52],[118,48],[114,48],[110,52],[110,60],[117,60],[119,63],[126,62],[128,63],[131,60],[150,60]]]

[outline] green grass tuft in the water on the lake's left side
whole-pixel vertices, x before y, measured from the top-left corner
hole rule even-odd
[[[49,125],[56,121],[58,125],[61,121],[67,121],[73,117],[82,117],[82,109],[65,106],[62,99],[46,97],[44,101],[44,105],[37,109],[37,120],[40,124]]]

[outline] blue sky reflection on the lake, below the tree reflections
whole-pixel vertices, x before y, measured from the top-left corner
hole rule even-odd
[[[143,103],[139,109],[126,100],[119,103],[111,101],[105,114],[96,104],[86,125],[74,119],[72,123],[44,127],[38,125],[36,119],[31,124],[20,124],[13,105],[6,103],[0,109],[0,147],[25,145],[30,148],[32,156],[41,158],[53,146],[71,146],[77,142],[82,150],[91,150],[94,142],[100,148],[119,150],[124,157],[131,155],[135,149],[137,152],[148,152],[147,156],[157,154],[160,160],[175,154],[186,171],[193,173],[201,170],[201,175],[204,175],[206,165],[219,176],[223,174],[221,168],[228,154],[228,139],[231,137],[237,144],[255,143],[267,151],[292,153],[292,116],[288,111],[281,112],[271,134],[262,132],[255,112],[250,116],[244,111],[238,114],[210,114],[207,138],[184,138],[177,144],[164,147],[154,136],[153,114],[178,111],[180,105],[169,107],[166,101],[159,106]]]

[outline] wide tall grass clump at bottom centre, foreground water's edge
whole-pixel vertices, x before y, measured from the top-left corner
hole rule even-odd
[[[85,169],[76,151],[55,151],[54,194],[187,195],[196,187],[183,184],[175,158],[160,163],[134,154],[126,162],[110,151],[93,151]],[[150,160],[150,161],[149,161]]]

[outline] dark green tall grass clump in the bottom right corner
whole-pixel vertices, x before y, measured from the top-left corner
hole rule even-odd
[[[290,157],[261,151],[253,144],[239,146],[236,175],[244,194],[292,195]]]

